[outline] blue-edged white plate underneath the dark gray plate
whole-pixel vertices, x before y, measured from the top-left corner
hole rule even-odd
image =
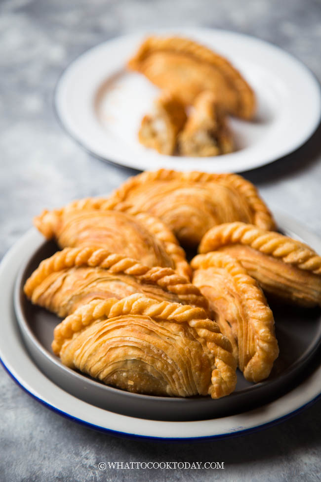
[[[280,225],[321,252],[321,239],[287,217]],[[22,342],[13,310],[13,286],[21,263],[42,240],[31,229],[7,253],[0,264],[1,361],[10,375],[29,394],[47,407],[98,430],[126,437],[161,439],[223,438],[240,435],[276,423],[315,401],[321,394],[321,366],[289,393],[255,410],[230,417],[197,422],[159,422],[119,415],[81,401],[43,375]]]

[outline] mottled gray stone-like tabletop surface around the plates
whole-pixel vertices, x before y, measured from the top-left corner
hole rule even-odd
[[[99,42],[168,26],[254,35],[285,48],[321,79],[319,0],[2,0],[0,256],[43,207],[106,193],[131,174],[90,157],[61,130],[52,109],[61,71]],[[281,162],[244,175],[272,209],[321,235],[320,134]],[[65,420],[22,392],[3,370],[0,387],[1,481],[321,480],[321,401],[260,433],[160,444],[102,435]],[[225,470],[100,472],[97,464],[104,460],[218,460]]]

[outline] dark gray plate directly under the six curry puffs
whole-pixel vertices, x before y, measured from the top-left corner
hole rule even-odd
[[[296,222],[278,216],[284,233],[311,244],[321,252],[321,240]],[[61,321],[47,310],[32,305],[23,293],[23,285],[40,261],[57,251],[54,242],[35,246],[17,277],[14,306],[18,324],[28,351],[40,370],[56,385],[83,401],[112,412],[152,420],[204,420],[241,413],[272,401],[297,385],[308,363],[321,345],[321,311],[278,305],[270,300],[276,321],[280,355],[270,377],[251,384],[238,371],[235,392],[212,400],[210,397],[161,397],[131,394],[65,367],[51,350],[53,329]]]

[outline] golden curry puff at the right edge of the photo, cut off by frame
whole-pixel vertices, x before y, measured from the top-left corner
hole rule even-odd
[[[306,307],[321,305],[321,257],[306,244],[231,222],[203,237],[200,253],[217,250],[238,259],[267,293]]]

